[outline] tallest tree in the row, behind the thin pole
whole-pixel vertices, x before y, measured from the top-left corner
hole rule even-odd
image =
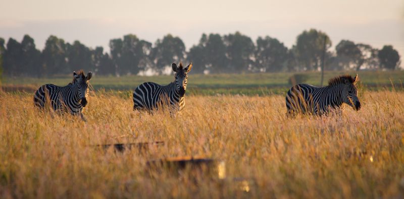
[[[297,64],[303,70],[316,70],[320,69],[324,37],[326,37],[326,51],[331,47],[331,40],[326,33],[310,29],[303,31],[297,36],[296,45],[293,46]]]

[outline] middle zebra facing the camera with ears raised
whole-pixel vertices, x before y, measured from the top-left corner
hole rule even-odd
[[[133,109],[134,110],[154,110],[158,107],[165,105],[180,111],[185,106],[185,90],[188,73],[192,68],[192,63],[187,67],[182,67],[180,62],[179,67],[177,64],[172,64],[175,73],[175,81],[167,86],[162,86],[154,82],[145,82],[138,86],[133,92]]]

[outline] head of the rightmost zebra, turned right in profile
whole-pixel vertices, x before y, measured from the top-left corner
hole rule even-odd
[[[355,110],[361,109],[361,102],[358,99],[358,89],[356,87],[357,81],[358,74],[355,78],[352,78],[349,75],[341,76],[341,83],[343,84],[343,101],[349,106],[352,106]]]

